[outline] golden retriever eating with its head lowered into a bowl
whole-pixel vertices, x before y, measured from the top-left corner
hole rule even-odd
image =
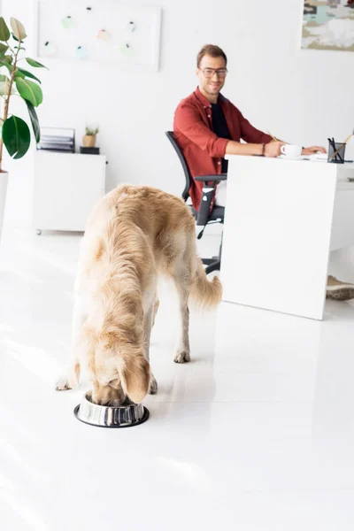
[[[121,185],[96,204],[81,241],[72,355],[56,389],[73,389],[82,365],[96,404],[139,403],[157,392],[149,349],[158,274],[172,278],[177,289],[181,330],[174,361],[184,363],[190,360],[189,297],[219,304],[221,284],[204,273],[195,220],[180,198]]]

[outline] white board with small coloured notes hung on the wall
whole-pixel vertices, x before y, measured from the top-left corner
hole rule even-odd
[[[39,58],[158,71],[160,7],[115,0],[37,0],[35,24]]]

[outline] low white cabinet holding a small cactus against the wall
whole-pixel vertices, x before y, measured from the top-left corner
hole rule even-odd
[[[84,231],[105,193],[103,155],[36,151],[33,226],[38,231]]]

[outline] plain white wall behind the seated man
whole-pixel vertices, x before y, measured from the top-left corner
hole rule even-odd
[[[196,88],[196,53],[206,42],[227,52],[223,93],[256,127],[302,144],[327,144],[328,135],[342,140],[352,131],[354,53],[299,50],[303,0],[158,4],[163,7],[158,73],[42,59],[50,67],[39,72],[42,125],[75,127],[80,141],[86,123],[98,124],[98,143],[109,160],[108,188],[129,181],[181,193],[183,175],[164,132],[181,98]],[[4,16],[23,21],[29,35],[31,5],[3,2]],[[8,164],[8,225],[30,225],[30,164],[31,157]]]

